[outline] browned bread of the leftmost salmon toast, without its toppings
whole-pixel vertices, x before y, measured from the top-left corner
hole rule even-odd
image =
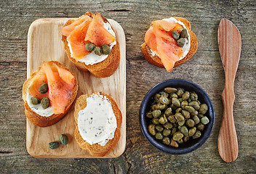
[[[68,68],[63,67],[63,65],[60,62],[57,61],[51,61],[54,62],[58,67],[62,67],[65,70],[68,70]],[[77,84],[77,80],[75,78],[75,86],[73,87],[73,91],[72,91],[72,95],[71,95],[71,99],[69,99],[67,106],[65,107],[65,112],[62,114],[53,114],[49,117],[44,117],[41,115],[36,114],[36,112],[33,112],[33,110],[31,109],[31,107],[28,106],[28,102],[27,102],[27,92],[28,92],[28,87],[31,84],[31,80],[33,79],[33,77],[36,76],[36,74],[41,70],[41,66],[38,68],[38,70],[36,70],[36,72],[33,72],[30,76],[30,78],[28,78],[28,80],[25,80],[25,83],[23,84],[23,101],[24,106],[25,106],[25,115],[28,118],[28,120],[33,123],[34,125],[38,125],[39,127],[47,127],[49,125],[54,125],[55,123],[57,123],[57,121],[59,121],[62,117],[64,117],[64,115],[68,112],[68,110],[71,108],[71,105],[74,101],[74,99],[76,99],[76,94],[77,94],[77,89],[78,89],[78,84]],[[68,70],[69,71],[69,70]],[[71,72],[72,73],[72,72]],[[73,75],[73,73],[72,73]],[[75,77],[75,75],[73,75]]]

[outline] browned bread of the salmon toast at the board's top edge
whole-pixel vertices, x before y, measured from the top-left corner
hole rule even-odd
[[[84,15],[88,15],[89,17],[92,17],[92,12],[87,12]],[[103,17],[104,22],[108,22],[108,20]],[[64,26],[70,25],[75,20],[68,20]],[[113,29],[113,28],[112,28]],[[117,36],[116,36],[117,37]],[[61,40],[64,43],[64,49],[66,53],[68,54],[68,58],[73,62],[76,67],[78,67],[80,70],[87,71],[92,73],[92,75],[95,75],[97,78],[106,78],[113,74],[113,72],[116,71],[116,69],[119,67],[120,62],[120,49],[119,49],[119,42],[116,39],[116,45],[113,46],[111,49],[111,54],[108,55],[106,59],[103,60],[103,62],[99,62],[94,65],[86,65],[84,62],[76,61],[71,56],[71,51],[68,46],[68,41],[66,36],[62,36]]]

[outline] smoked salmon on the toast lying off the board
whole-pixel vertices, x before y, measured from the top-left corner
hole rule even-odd
[[[183,56],[183,49],[177,46],[177,41],[172,37],[172,30],[180,33],[182,25],[166,20],[153,21],[145,33],[146,45],[158,54],[167,72],[171,72],[175,62]]]

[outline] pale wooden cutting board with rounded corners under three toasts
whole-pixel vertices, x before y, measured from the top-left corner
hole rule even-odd
[[[115,149],[105,158],[119,157],[126,144],[126,50],[124,30],[118,22],[109,20],[115,30],[120,45],[120,65],[116,72],[108,78],[95,78],[89,72],[82,72],[68,59],[61,41],[60,28],[69,18],[39,19],[34,21],[28,30],[28,67],[27,78],[36,71],[44,61],[57,60],[76,75],[81,94],[92,94],[102,91],[109,94],[119,105],[123,117],[121,137]],[[74,101],[74,103],[76,100]],[[27,119],[26,147],[33,157],[44,158],[95,158],[89,151],[80,149],[74,138],[76,122],[73,117],[74,103],[68,114],[55,125],[40,128]],[[49,149],[49,142],[59,141],[60,134],[68,136],[68,144],[60,144],[57,149]]]

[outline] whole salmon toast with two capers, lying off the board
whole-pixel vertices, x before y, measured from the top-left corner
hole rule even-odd
[[[188,35],[182,38],[181,33],[185,29]],[[167,72],[191,59],[197,48],[198,38],[191,31],[190,22],[183,17],[153,21],[145,34],[145,42],[141,45],[145,59],[152,65],[165,67]]]

